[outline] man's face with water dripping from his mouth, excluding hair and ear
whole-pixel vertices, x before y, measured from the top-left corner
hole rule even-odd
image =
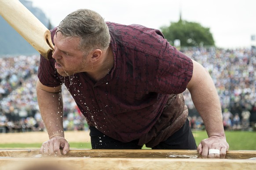
[[[86,71],[89,58],[84,56],[78,48],[80,39],[78,37],[65,38],[61,32],[54,36],[54,52],[52,57],[55,59],[55,68],[62,76]]]

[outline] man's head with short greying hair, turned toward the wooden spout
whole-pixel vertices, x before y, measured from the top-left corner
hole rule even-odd
[[[62,76],[97,71],[93,65],[105,60],[110,33],[104,19],[96,12],[81,9],[67,15],[54,36],[55,68]]]

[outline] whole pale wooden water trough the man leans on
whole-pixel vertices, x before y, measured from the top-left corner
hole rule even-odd
[[[45,157],[39,149],[0,150],[0,170],[200,169],[256,170],[256,151],[228,151],[225,159],[201,158],[196,150],[71,149]]]

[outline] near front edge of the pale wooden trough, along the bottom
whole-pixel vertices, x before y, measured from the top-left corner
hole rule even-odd
[[[255,170],[249,159],[165,159],[165,158],[0,158],[0,170]]]

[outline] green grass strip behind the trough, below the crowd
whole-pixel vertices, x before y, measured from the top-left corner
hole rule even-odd
[[[207,138],[205,131],[193,131],[197,145],[202,139]],[[256,150],[256,132],[253,131],[226,131],[229,150]],[[91,149],[90,143],[69,143],[71,149]],[[34,144],[0,144],[0,148],[40,148],[41,143]],[[143,147],[143,149],[147,149]]]

